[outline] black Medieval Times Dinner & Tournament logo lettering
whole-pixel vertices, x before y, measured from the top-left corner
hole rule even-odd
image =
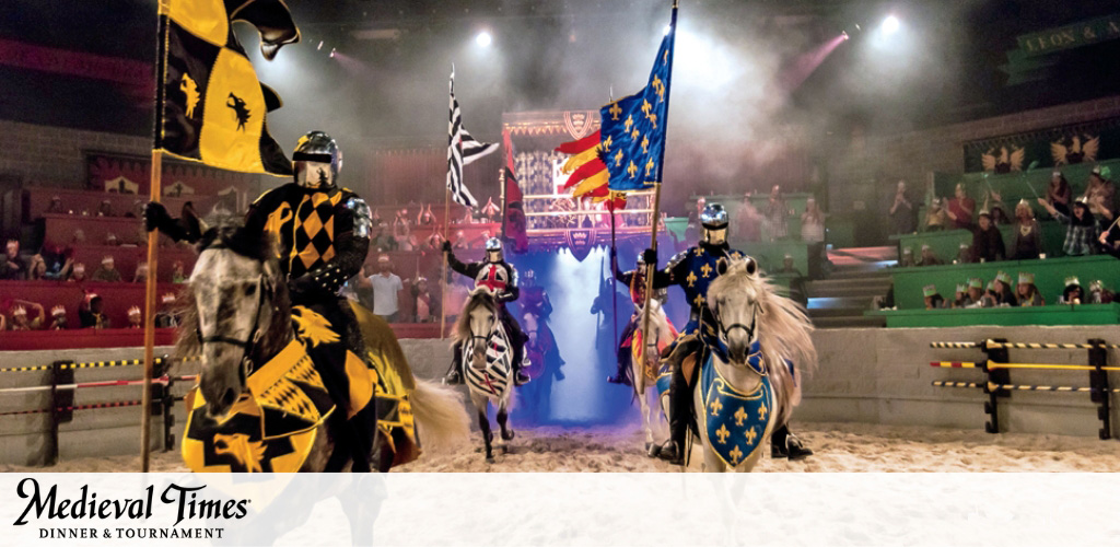
[[[88,484],[66,495],[57,484],[44,489],[28,478],[16,486],[27,506],[13,525],[39,526],[39,539],[222,539],[224,528],[192,527],[190,521],[243,519],[251,500],[207,499],[202,493],[205,488],[171,483],[157,497],[156,486],[149,485],[134,498],[104,499]],[[161,520],[157,513],[172,510],[170,527],[150,525]],[[122,521],[133,526],[122,526]],[[184,521],[187,526],[179,526]]]

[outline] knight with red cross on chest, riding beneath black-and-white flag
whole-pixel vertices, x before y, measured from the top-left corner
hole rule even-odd
[[[497,238],[486,240],[486,258],[477,262],[464,263],[456,259],[449,241],[444,242],[444,252],[447,254],[447,265],[452,270],[474,279],[476,289],[485,288],[494,294],[494,299],[497,300],[498,305],[498,319],[508,333],[513,345],[514,382],[517,386],[528,383],[529,377],[522,371],[525,367],[524,355],[528,337],[522,332],[521,325],[517,324],[517,319],[505,306],[506,303],[516,300],[521,294],[517,288],[517,270],[505,261],[502,253],[502,240]],[[461,350],[456,345],[451,368],[444,378],[446,383],[463,383],[461,364]]]

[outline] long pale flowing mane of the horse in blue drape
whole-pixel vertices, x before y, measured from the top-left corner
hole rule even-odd
[[[745,259],[731,259],[727,271],[708,287],[708,302],[718,302],[721,295],[753,286],[758,295],[762,314],[758,315],[758,344],[763,351],[766,371],[778,401],[777,424],[788,420],[793,407],[800,402],[796,389],[800,373],[791,374],[785,361],[792,361],[795,371],[816,368],[816,347],[813,346],[813,323],[797,303],[777,294],[776,287],[758,274],[747,272]]]

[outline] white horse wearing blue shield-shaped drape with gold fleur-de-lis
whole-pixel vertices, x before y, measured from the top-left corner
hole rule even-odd
[[[706,471],[750,471],[800,402],[797,369],[816,363],[812,323],[778,296],[754,259],[721,261],[708,287],[718,345],[692,391]]]

